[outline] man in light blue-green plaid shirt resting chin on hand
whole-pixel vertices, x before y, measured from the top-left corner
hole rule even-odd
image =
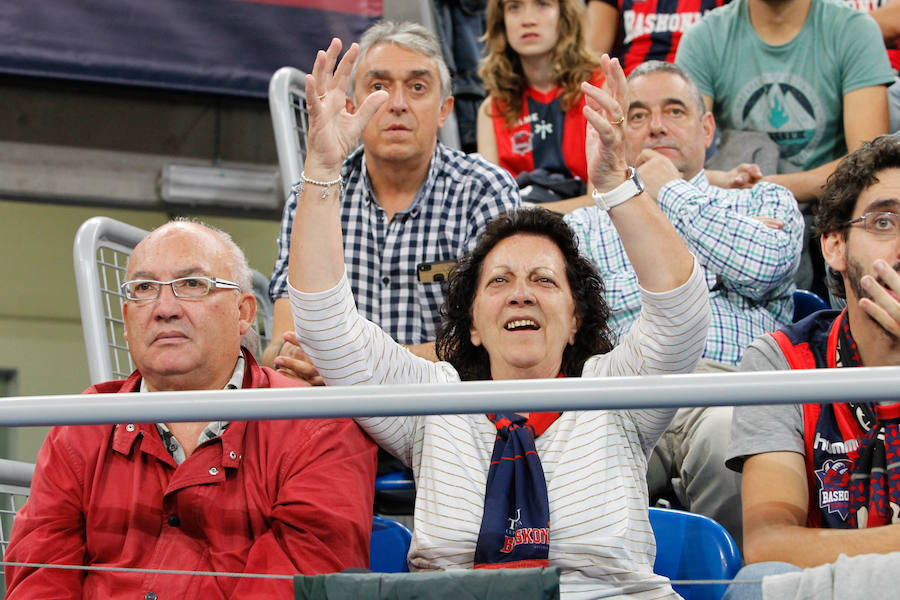
[[[703,161],[715,122],[679,67],[646,62],[628,86],[629,162],[706,269],[712,322],[698,369],[736,370],[754,338],[791,322],[803,232],[797,203],[771,183],[710,185]],[[742,165],[729,176],[740,179],[749,168]],[[610,326],[624,333],[639,318],[639,288],[612,222],[598,207],[575,211],[566,221],[603,276]],[[731,407],[679,410],[654,452],[648,478],[653,495],[675,477],[679,501],[722,523],[740,542],[739,480],[724,464],[730,425]]]

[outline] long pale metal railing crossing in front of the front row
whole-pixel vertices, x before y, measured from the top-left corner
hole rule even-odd
[[[900,367],[233,391],[20,396],[0,425],[85,425],[898,399]],[[423,401],[427,399],[427,401]]]

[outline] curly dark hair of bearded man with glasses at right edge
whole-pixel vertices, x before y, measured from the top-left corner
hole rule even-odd
[[[881,135],[866,142],[842,160],[829,175],[816,206],[815,233],[842,231],[847,239],[847,221],[853,217],[860,194],[878,183],[878,173],[900,168],[900,137]],[[844,279],[828,267],[828,287],[835,296],[846,298]]]

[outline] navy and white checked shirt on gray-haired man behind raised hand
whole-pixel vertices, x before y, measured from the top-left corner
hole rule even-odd
[[[521,205],[504,169],[440,142],[412,204],[390,222],[372,193],[363,149],[344,163],[344,261],[360,313],[401,344],[435,339],[444,302],[441,284],[422,283],[416,266],[457,260],[471,250],[484,225]],[[269,295],[287,296],[288,254],[297,195],[284,205],[278,259]],[[315,257],[310,257],[315,260]]]

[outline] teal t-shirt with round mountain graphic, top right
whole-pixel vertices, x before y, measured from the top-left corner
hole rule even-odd
[[[764,131],[803,170],[846,154],[844,96],[894,82],[875,20],[835,0],[813,0],[789,42],[763,41],[749,0],[734,0],[685,31],[675,62],[715,102],[722,129]]]

